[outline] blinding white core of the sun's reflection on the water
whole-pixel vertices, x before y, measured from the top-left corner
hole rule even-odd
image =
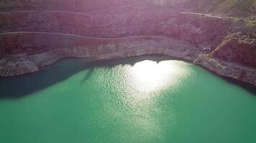
[[[180,66],[180,61],[140,61],[129,68],[132,87],[139,92],[156,92],[165,87],[180,82],[180,77],[186,75],[186,70]]]

